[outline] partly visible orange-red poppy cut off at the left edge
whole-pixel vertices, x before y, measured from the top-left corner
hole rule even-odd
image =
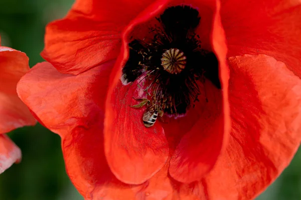
[[[1,38],[0,38],[1,43]],[[36,119],[18,97],[16,87],[21,76],[29,70],[24,52],[0,45],[0,173],[21,160],[20,148],[4,133]]]

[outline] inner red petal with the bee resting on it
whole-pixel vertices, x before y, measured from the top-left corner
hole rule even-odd
[[[138,80],[137,80],[138,81]],[[136,81],[136,82],[137,82]],[[139,184],[153,176],[166,163],[169,148],[160,123],[146,128],[142,122],[145,108],[132,108],[139,96],[136,83],[116,86],[106,112],[105,153],[118,179]],[[108,106],[108,105],[107,105]],[[108,109],[107,109],[108,110]]]

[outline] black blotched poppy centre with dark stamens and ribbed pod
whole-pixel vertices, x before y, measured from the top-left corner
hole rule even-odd
[[[149,106],[175,116],[184,114],[198,101],[205,79],[221,88],[218,60],[201,47],[195,33],[200,23],[198,10],[190,6],[167,8],[150,28],[152,38],[133,39],[123,67],[125,82],[139,80]],[[143,104],[144,105],[144,104]]]

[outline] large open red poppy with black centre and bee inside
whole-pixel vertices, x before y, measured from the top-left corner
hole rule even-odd
[[[250,199],[300,143],[300,11],[77,0],[18,93],[86,199]]]

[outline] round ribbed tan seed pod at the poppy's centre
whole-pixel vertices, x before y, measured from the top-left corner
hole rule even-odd
[[[161,64],[166,71],[177,74],[185,68],[186,56],[178,48],[171,48],[162,54]]]

